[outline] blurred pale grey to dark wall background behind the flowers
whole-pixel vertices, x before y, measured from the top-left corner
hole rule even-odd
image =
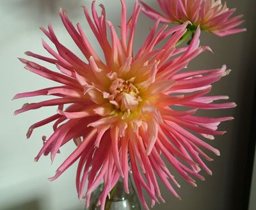
[[[158,8],[156,0],[145,1],[150,6]],[[12,101],[16,93],[33,91],[54,86],[38,75],[24,70],[23,64],[17,57],[30,59],[23,52],[27,50],[48,56],[41,44],[41,38],[50,43],[40,31],[39,26],[47,27],[49,21],[61,43],[81,56],[74,42],[68,36],[62,25],[58,11],[67,8],[68,17],[74,24],[79,22],[96,51],[99,44],[93,38],[86,24],[83,9],[84,5],[90,8],[90,0],[0,0],[0,64],[1,64],[1,118],[0,118],[0,209],[2,210],[81,210],[84,209],[84,200],[79,202],[75,186],[76,164],[67,170],[56,181],[47,181],[55,174],[55,170],[65,158],[74,150],[70,142],[61,149],[51,165],[50,157],[44,157],[35,163],[33,158],[42,147],[42,135],[49,137],[51,126],[44,126],[34,131],[30,139],[26,140],[26,131],[29,126],[47,116],[55,114],[54,108],[31,110],[30,112],[13,116],[13,112],[27,102],[42,101],[44,97],[25,98]],[[120,1],[97,0],[97,4],[104,4],[107,19],[113,25],[120,25]],[[131,15],[134,1],[127,0],[128,15]],[[161,183],[161,192],[166,200],[165,204],[156,204],[154,209],[161,210],[231,210],[247,209],[248,204],[248,172],[253,160],[252,142],[255,136],[250,131],[253,114],[253,96],[255,94],[256,56],[255,56],[255,28],[256,2],[255,0],[227,0],[228,8],[237,8],[235,15],[244,14],[246,20],[242,26],[245,33],[218,37],[214,34],[202,32],[201,45],[209,45],[213,50],[204,52],[189,63],[189,70],[203,70],[220,68],[223,64],[232,71],[227,77],[213,84],[212,95],[228,95],[230,100],[237,103],[235,109],[202,111],[202,116],[221,117],[233,116],[233,121],[224,122],[220,130],[226,130],[223,136],[216,136],[214,140],[206,140],[213,147],[220,150],[221,156],[215,156],[208,151],[214,161],[207,162],[213,175],[204,171],[205,181],[196,179],[197,187],[193,188],[186,181],[173,172],[181,188],[175,188],[182,201],[175,197]],[[100,11],[100,10],[99,10]],[[149,33],[149,27],[154,21],[140,15],[136,31],[135,46],[141,46]],[[174,25],[170,24],[170,27]],[[134,51],[138,50],[138,47]],[[102,56],[102,54],[101,54]],[[35,60],[34,60],[35,61]],[[40,62],[39,62],[40,63]],[[44,64],[44,63],[40,63]],[[44,64],[55,69],[54,66]],[[47,98],[49,99],[49,98]],[[251,142],[251,143],[250,143]],[[250,145],[250,146],[248,146]],[[249,161],[248,161],[249,158]],[[248,170],[249,169],[249,170]],[[256,177],[256,172],[253,177]],[[250,199],[250,210],[256,209],[256,182],[253,181]],[[148,200],[148,197],[147,197]],[[150,202],[148,200],[148,205]]]

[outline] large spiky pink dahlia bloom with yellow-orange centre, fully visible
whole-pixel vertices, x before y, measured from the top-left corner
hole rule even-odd
[[[192,186],[196,184],[189,174],[204,180],[198,174],[199,165],[208,174],[212,174],[201,158],[209,161],[212,159],[200,147],[217,155],[220,152],[188,130],[199,133],[204,138],[214,139],[213,135],[225,133],[216,131],[218,124],[232,117],[198,117],[194,115],[196,110],[227,109],[235,107],[236,104],[211,103],[227,99],[227,96],[205,96],[211,91],[213,82],[229,73],[226,66],[214,70],[180,73],[191,59],[205,50],[210,50],[209,47],[199,47],[200,29],[196,31],[189,47],[175,49],[175,43],[186,33],[189,22],[168,30],[167,26],[163,26],[157,31],[160,21],[157,20],[140,50],[134,55],[134,33],[141,6],[136,1],[132,17],[127,21],[125,1],[121,0],[121,3],[120,39],[111,22],[106,20],[102,4],[99,17],[95,10],[95,1],[92,3],[92,18],[84,7],[84,14],[99,41],[106,62],[97,56],[80,24],[77,24],[77,29],[72,25],[65,10],[60,10],[61,20],[88,62],[79,59],[58,41],[51,24],[48,31],[41,27],[56,47],[53,50],[43,40],[44,48],[54,58],[32,52],[26,52],[26,55],[55,64],[59,72],[26,59],[20,61],[26,65],[27,70],[54,80],[60,86],[20,93],[14,99],[40,95],[57,98],[26,103],[15,114],[41,107],[58,106],[57,114],[33,124],[27,133],[29,138],[35,128],[55,121],[53,133],[49,139],[43,137],[44,146],[35,161],[42,154],[49,153],[53,161],[60,147],[72,139],[77,146],[58,168],[56,175],[49,180],[58,178],[79,159],[76,176],[78,197],[80,200],[86,199],[88,206],[93,189],[103,179],[105,188],[98,205],[101,204],[101,209],[104,209],[106,197],[120,176],[124,177],[125,191],[129,193],[128,174],[132,172],[141,202],[148,209],[141,186],[150,195],[152,206],[158,202],[157,197],[164,201],[155,172],[173,195],[180,199],[168,178],[178,187],[179,184],[166,168],[161,153]],[[111,42],[107,37],[107,27],[110,30]],[[166,38],[170,34],[173,34],[172,38]],[[164,46],[155,49],[157,43],[164,38]],[[176,111],[177,106],[187,109]],[[131,159],[130,164],[127,152]],[[86,183],[88,187],[84,190]]]

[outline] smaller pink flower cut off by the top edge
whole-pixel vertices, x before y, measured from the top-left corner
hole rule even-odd
[[[143,1],[140,1],[145,7],[142,9],[142,12],[153,20],[160,18],[162,23],[171,22],[176,24],[182,24],[189,20],[194,28],[200,25],[201,30],[217,34],[218,36],[227,36],[246,31],[246,29],[234,29],[234,27],[239,26],[243,22],[243,20],[239,20],[243,15],[229,19],[236,9],[228,10],[227,4],[221,4],[221,0],[157,1],[166,17],[143,3]]]

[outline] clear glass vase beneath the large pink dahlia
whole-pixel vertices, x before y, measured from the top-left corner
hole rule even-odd
[[[97,188],[92,192],[90,198],[90,206],[85,207],[84,210],[100,210],[100,206],[97,206],[99,197],[104,190],[104,183],[99,184]],[[121,177],[116,183],[116,186],[111,191],[111,198],[107,197],[105,210],[141,210],[140,201],[138,195],[134,190],[129,176],[129,194],[124,190],[124,179]]]

